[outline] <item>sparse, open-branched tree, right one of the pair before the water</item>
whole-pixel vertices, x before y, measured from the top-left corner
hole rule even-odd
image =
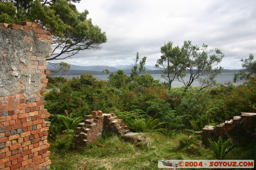
[[[208,50],[208,45],[203,43],[202,48],[193,45],[191,41],[184,41],[181,48],[181,58],[184,70],[177,74],[177,78],[182,82],[186,89],[191,86],[195,80],[200,83],[199,91],[210,88],[217,84],[216,77],[221,73],[223,68],[216,67],[224,57],[220,49],[215,48]],[[188,74],[189,79],[185,76]]]

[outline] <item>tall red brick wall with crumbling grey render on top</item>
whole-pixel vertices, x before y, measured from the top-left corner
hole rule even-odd
[[[40,95],[50,35],[30,22],[0,23],[0,170],[50,169],[50,115]]]

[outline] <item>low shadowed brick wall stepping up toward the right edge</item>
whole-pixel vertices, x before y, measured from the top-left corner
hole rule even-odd
[[[201,132],[202,140],[208,145],[208,139],[215,142],[219,137],[223,140],[231,138],[231,143],[237,141],[253,141],[256,138],[256,113],[242,113],[241,116],[234,116],[230,121],[220,123],[217,126],[206,125]]]

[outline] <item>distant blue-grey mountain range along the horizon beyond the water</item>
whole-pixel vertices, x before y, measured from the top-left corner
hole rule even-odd
[[[110,71],[110,74],[113,73],[115,74],[118,69],[124,70],[125,74],[131,74],[132,67],[134,64],[130,65],[118,65],[115,67],[110,67],[110,66],[104,66],[104,65],[97,65],[97,66],[80,66],[80,65],[73,65],[73,64],[68,64],[70,65],[70,70],[68,71],[69,75],[81,75],[82,73],[91,73],[91,74],[107,74],[106,72],[102,72],[102,70],[108,69]],[[140,65],[138,65],[139,67]],[[143,73],[149,73],[149,74],[161,74],[162,71],[159,69],[156,69],[154,66],[150,65],[145,65],[146,71],[143,71]],[[47,65],[47,70],[52,70],[53,66],[48,64]],[[223,73],[237,73],[239,70],[228,70],[224,69],[222,71]]]

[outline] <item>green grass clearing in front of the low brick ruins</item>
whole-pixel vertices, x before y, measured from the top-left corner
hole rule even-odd
[[[103,137],[98,141],[88,144],[82,150],[74,151],[57,149],[51,144],[51,169],[149,170],[158,169],[159,159],[214,159],[213,152],[202,145],[199,136],[190,135],[186,140],[186,146],[180,144],[180,134],[171,138],[158,132],[144,133],[143,136],[145,139],[137,144],[123,142],[122,138],[116,135],[103,133]],[[237,147],[228,153],[226,159],[253,159],[253,149],[253,144]]]

